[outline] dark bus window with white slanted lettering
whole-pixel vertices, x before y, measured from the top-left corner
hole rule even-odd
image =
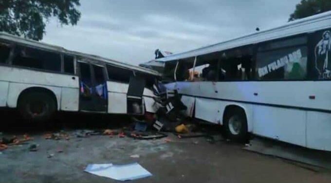
[[[267,44],[278,45],[277,49],[264,49],[273,46],[261,45],[257,52],[256,76],[258,80],[304,80],[307,76],[307,45],[302,37],[273,41]],[[298,45],[293,45],[297,42]],[[280,45],[282,47],[280,47]]]

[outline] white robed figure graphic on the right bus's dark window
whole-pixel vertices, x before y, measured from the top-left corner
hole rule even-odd
[[[319,73],[319,79],[328,79],[331,77],[329,54],[331,54],[331,32],[325,31],[322,40],[315,47],[315,65]]]

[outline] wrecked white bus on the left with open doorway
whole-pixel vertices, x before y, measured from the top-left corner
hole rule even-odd
[[[159,73],[0,33],[0,107],[44,121],[56,111],[142,115]],[[130,84],[129,84],[130,82]]]

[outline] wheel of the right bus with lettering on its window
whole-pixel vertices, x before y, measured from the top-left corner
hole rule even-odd
[[[230,140],[245,142],[248,137],[247,119],[243,109],[234,107],[227,110],[223,123],[225,135]]]

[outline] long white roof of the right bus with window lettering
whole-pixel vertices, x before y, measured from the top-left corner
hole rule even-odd
[[[262,41],[270,41],[297,34],[314,32],[316,30],[331,27],[331,11],[324,12],[311,17],[287,22],[286,24],[269,30],[259,31],[233,40],[212,44],[202,48],[186,51],[183,53],[169,55],[155,61],[174,61],[179,59],[191,58],[206,55],[213,52],[223,51],[239,46],[256,44]]]

